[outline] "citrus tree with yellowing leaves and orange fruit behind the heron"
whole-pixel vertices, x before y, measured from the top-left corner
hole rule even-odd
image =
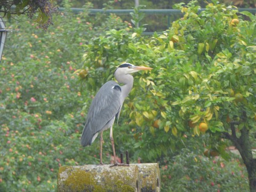
[[[143,28],[127,28],[92,39],[85,46],[88,81],[102,84],[97,77],[110,79],[121,61],[153,67],[150,75],[135,76],[121,114],[122,126],[132,127],[133,153],[151,161],[188,138],[207,138],[206,156],[229,159],[231,141],[254,190],[255,16],[217,1],[205,11],[196,1],[176,8],[183,18],[161,35],[147,38]]]

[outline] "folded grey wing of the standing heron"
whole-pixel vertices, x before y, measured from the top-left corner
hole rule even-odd
[[[81,145],[91,145],[92,138],[115,118],[121,110],[121,87],[114,81],[102,85],[93,99],[87,114],[86,123],[81,137]],[[113,122],[114,123],[114,122]]]

